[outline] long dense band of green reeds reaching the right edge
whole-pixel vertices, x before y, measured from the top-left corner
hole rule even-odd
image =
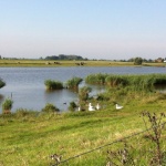
[[[133,90],[153,90],[156,85],[166,85],[166,74],[90,74],[85,77],[89,84],[105,84],[107,86],[129,86]]]

